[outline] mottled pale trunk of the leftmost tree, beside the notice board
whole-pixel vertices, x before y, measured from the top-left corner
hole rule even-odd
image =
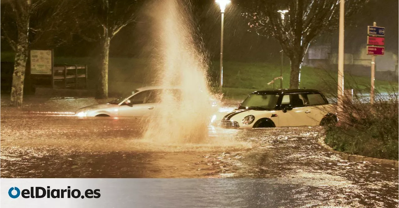
[[[14,74],[12,75],[11,105],[15,107],[22,105],[26,61],[28,60],[29,16],[24,17],[20,19],[21,26],[18,27],[18,43],[14,58]]]

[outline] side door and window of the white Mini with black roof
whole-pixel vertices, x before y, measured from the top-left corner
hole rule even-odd
[[[309,126],[311,119],[307,116],[309,107],[303,94],[286,94],[282,97],[280,108],[292,107],[286,113],[279,113],[279,126]]]

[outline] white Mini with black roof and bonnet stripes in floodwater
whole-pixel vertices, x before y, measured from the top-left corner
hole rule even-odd
[[[237,109],[215,119],[225,128],[318,126],[337,122],[336,105],[316,89],[276,89],[251,93]]]

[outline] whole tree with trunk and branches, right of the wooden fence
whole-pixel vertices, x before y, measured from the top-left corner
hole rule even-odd
[[[99,82],[96,98],[108,97],[108,65],[111,39],[136,19],[138,4],[144,0],[81,0],[79,35],[86,41],[98,42],[101,48]]]

